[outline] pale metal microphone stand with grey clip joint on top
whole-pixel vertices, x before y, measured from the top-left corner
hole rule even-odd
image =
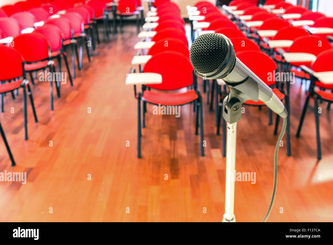
[[[236,129],[241,119],[241,102],[233,93],[231,86],[229,94],[223,101],[223,118],[227,122],[226,142],[226,172],[225,172],[225,212],[222,222],[236,222],[233,213],[235,195],[235,162],[236,162]]]

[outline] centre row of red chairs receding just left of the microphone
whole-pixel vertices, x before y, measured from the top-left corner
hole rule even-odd
[[[156,34],[151,38],[154,45],[151,46],[147,53],[148,55],[152,55],[152,57],[144,65],[143,73],[141,74],[158,73],[162,76],[162,83],[143,83],[142,91],[136,94],[138,100],[137,156],[141,157],[141,127],[145,127],[147,103],[173,107],[189,103],[193,104],[193,109],[196,112],[195,134],[198,134],[200,127],[200,155],[203,156],[202,98],[200,92],[197,90],[196,76],[194,76],[193,67],[189,61],[184,20],[180,17],[178,6],[170,1],[155,1],[154,6],[157,8],[158,21],[157,27],[154,28]],[[133,68],[131,68],[131,72],[134,72]],[[190,88],[185,92],[163,93],[166,90],[174,91],[186,87]],[[142,108],[141,101],[143,102]]]

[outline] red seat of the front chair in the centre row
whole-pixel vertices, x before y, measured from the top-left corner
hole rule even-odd
[[[182,105],[195,100],[197,97],[193,89],[173,94],[163,94],[145,90],[142,99],[157,105]]]

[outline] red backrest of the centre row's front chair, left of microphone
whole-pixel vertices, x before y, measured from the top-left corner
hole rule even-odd
[[[149,87],[174,90],[192,85],[193,67],[188,57],[175,51],[164,51],[153,55],[144,67],[144,72],[162,75],[162,83]]]

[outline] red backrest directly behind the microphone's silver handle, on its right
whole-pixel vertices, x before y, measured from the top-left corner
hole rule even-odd
[[[271,72],[274,74],[276,64],[264,52],[255,50],[240,51],[236,53],[236,57],[268,86],[275,83],[275,81],[268,81],[269,76],[267,73]]]

